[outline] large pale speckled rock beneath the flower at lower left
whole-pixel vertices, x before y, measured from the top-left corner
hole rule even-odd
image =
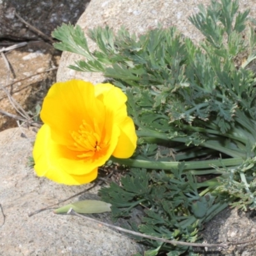
[[[64,186],[36,177],[28,167],[34,138],[35,132],[22,127],[0,132],[0,255],[131,256],[141,252],[131,239],[75,216],[55,215],[52,209],[28,216],[92,186]],[[84,194],[85,198],[95,199],[97,189]],[[78,196],[62,205],[77,200]]]

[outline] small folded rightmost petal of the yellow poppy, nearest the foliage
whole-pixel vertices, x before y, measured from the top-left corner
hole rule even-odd
[[[120,124],[120,136],[118,138],[118,143],[113,152],[113,156],[117,158],[129,158],[134,153],[136,149],[137,136],[135,132],[135,127],[132,119],[127,116]]]

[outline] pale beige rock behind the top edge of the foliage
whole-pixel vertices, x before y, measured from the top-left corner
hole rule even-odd
[[[118,31],[124,26],[130,33],[141,35],[148,29],[157,28],[160,23],[164,28],[176,26],[184,36],[189,36],[194,42],[203,40],[202,34],[189,22],[188,17],[198,12],[198,4],[207,5],[211,0],[92,0],[77,24],[86,31],[97,26],[109,26]],[[256,16],[256,3],[254,0],[239,1],[240,10],[251,9],[250,15]],[[92,40],[88,40],[89,48],[96,49]],[[74,65],[75,60],[83,57],[70,52],[63,52],[58,68],[57,81],[69,79],[84,79],[92,83],[102,83],[104,77],[99,73],[76,72],[67,68]]]

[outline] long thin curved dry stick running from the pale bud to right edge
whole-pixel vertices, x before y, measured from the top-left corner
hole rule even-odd
[[[128,234],[132,234],[134,236],[145,237],[147,239],[161,241],[161,242],[169,243],[169,244],[173,244],[173,245],[193,246],[193,247],[209,247],[209,248],[212,248],[212,247],[228,248],[228,246],[230,246],[230,245],[246,244],[246,243],[252,243],[252,242],[256,241],[256,238],[253,238],[253,239],[250,239],[250,240],[247,240],[247,241],[227,242],[227,243],[220,243],[220,244],[188,243],[188,242],[181,242],[181,241],[175,241],[175,240],[168,240],[168,239],[164,239],[164,238],[160,238],[160,237],[148,236],[148,235],[145,235],[145,234],[134,232],[132,230],[128,230],[128,229],[125,229],[125,228],[117,227],[117,226],[114,226],[114,225],[111,225],[111,224],[108,224],[108,223],[104,223],[102,221],[95,220],[93,218],[84,216],[82,214],[79,214],[79,213],[75,212],[72,208],[70,208],[68,210],[67,214],[74,215],[74,216],[77,216],[79,218],[83,218],[84,220],[93,221],[95,223],[98,223],[100,225],[104,225],[104,226],[109,227],[109,228],[115,228],[118,231],[125,232],[125,233],[128,233]]]

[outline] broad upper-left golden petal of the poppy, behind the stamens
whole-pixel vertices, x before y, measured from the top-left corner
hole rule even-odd
[[[95,119],[104,123],[104,105],[95,99],[92,83],[71,80],[52,85],[40,116],[51,127],[54,141],[70,145],[74,142],[70,132],[77,131],[83,120],[88,125]]]

